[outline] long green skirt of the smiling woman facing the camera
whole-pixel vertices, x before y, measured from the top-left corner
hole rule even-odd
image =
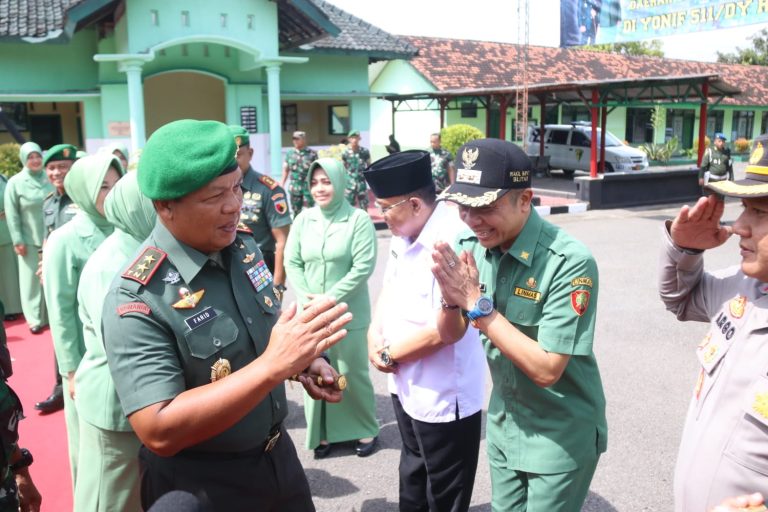
[[[367,329],[350,329],[347,336],[329,348],[331,366],[347,378],[344,399],[336,404],[304,395],[307,448],[320,441],[340,443],[379,435],[376,398],[368,374]]]

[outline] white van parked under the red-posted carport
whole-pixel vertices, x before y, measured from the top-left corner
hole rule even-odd
[[[549,156],[550,169],[562,169],[572,176],[576,169],[589,172],[592,125],[589,123],[548,124],[544,126],[544,155]],[[541,129],[528,134],[528,155],[539,155]],[[600,158],[600,128],[597,129],[598,158]],[[605,134],[605,172],[644,171],[648,157],[639,149],[627,146],[611,132]]]

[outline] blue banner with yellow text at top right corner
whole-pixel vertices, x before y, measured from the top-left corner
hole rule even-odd
[[[560,0],[560,46],[622,43],[768,22],[768,0]]]

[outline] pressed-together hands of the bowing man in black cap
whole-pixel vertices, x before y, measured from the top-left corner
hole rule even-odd
[[[480,273],[474,256],[463,251],[457,256],[450,245],[437,242],[432,251],[432,275],[440,286],[443,300],[451,306],[470,310],[480,298]]]

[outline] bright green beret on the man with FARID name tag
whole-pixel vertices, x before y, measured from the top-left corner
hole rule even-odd
[[[139,160],[139,188],[150,199],[178,199],[237,169],[232,132],[218,121],[182,119],[160,127]]]

